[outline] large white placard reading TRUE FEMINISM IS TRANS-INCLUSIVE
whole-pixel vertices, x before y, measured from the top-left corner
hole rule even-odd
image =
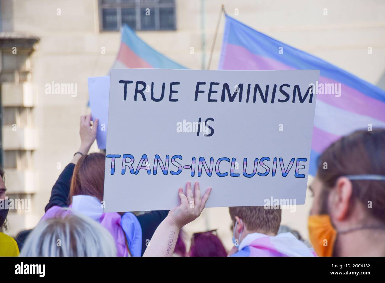
[[[106,212],[305,203],[318,70],[112,69]],[[273,203],[271,203],[273,205]]]

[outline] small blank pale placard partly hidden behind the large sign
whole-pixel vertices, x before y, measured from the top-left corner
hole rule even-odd
[[[110,92],[110,77],[90,77],[88,78],[88,96],[92,119],[99,119],[96,132],[97,147],[105,149],[107,140],[108,122],[108,99]]]

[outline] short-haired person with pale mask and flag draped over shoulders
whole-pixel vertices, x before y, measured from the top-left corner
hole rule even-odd
[[[264,206],[229,208],[234,247],[229,256],[315,256],[291,233],[278,234],[281,209]]]

